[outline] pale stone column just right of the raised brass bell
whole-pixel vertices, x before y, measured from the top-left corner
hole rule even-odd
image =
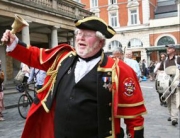
[[[25,26],[22,29],[22,41],[27,45],[30,45],[29,26]]]

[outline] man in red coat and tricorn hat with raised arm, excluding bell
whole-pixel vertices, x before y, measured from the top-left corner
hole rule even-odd
[[[28,113],[22,138],[144,138],[146,108],[136,73],[104,54],[115,30],[101,18],[75,21],[75,48],[27,46],[9,30],[8,55],[45,70],[42,89]]]

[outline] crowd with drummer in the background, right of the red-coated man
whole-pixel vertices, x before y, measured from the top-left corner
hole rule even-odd
[[[149,78],[150,81],[155,81],[155,87],[159,96],[160,105],[168,107],[169,118],[167,120],[171,121],[173,126],[176,126],[178,124],[178,108],[180,108],[180,57],[176,56],[175,45],[166,45],[166,50],[167,53],[160,53],[160,61],[150,61],[149,65],[146,63],[145,59],[139,63],[137,63],[136,60],[129,60],[132,59],[132,51],[127,50],[124,53],[120,47],[114,49],[112,52],[112,57],[118,58],[129,65],[136,72],[137,78],[143,78],[145,76]],[[163,73],[166,74],[166,77],[161,77],[159,80],[157,80],[157,76],[159,75],[160,71],[161,73],[163,71]],[[158,87],[157,85],[161,86]],[[163,87],[164,89],[162,91]]]

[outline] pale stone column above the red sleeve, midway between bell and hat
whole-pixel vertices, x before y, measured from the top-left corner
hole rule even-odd
[[[51,45],[50,48],[53,48],[58,45],[58,28],[57,26],[53,26],[51,29]]]

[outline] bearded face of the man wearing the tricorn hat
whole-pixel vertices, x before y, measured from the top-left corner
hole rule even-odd
[[[82,58],[94,56],[103,47],[103,41],[96,36],[95,31],[78,30],[75,40],[75,49]]]

